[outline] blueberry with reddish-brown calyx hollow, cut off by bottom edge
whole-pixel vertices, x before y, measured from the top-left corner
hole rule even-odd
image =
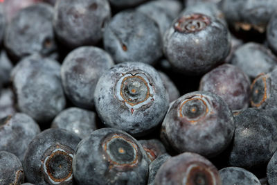
[[[195,153],[184,152],[168,159],[159,168],[155,185],[217,184],[221,185],[217,168],[208,159]]]

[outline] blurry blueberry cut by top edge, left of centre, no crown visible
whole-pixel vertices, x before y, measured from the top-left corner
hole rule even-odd
[[[53,26],[57,39],[74,49],[97,44],[110,17],[107,0],[57,1]]]

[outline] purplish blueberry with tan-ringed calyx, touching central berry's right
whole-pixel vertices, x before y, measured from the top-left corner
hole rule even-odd
[[[234,130],[233,114],[224,100],[208,91],[195,91],[172,103],[161,134],[177,152],[215,157],[229,145]]]

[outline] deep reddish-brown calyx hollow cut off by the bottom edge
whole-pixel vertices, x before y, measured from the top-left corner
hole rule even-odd
[[[203,164],[193,163],[188,166],[183,184],[216,184],[216,178]]]

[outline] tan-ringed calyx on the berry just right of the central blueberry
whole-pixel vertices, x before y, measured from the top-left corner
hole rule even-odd
[[[210,103],[203,95],[186,98],[180,105],[177,109],[179,118],[186,118],[191,124],[196,124],[211,112]]]

